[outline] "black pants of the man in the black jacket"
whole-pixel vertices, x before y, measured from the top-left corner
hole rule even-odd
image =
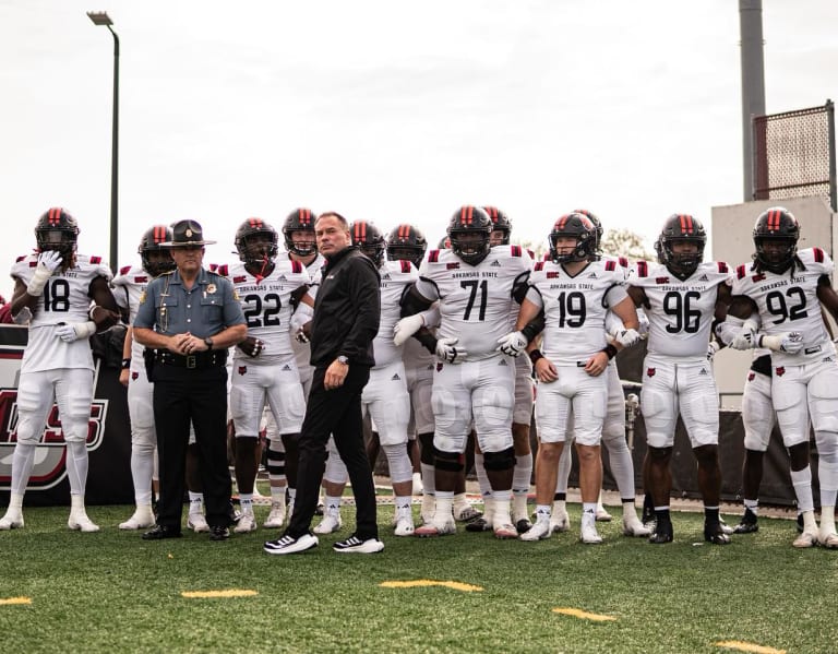
[[[372,469],[363,448],[361,391],[370,379],[367,366],[351,364],[339,389],[326,391],[323,378],[326,368],[315,368],[300,432],[300,460],[297,471],[297,499],[286,534],[299,538],[308,533],[318,508],[320,484],[326,462],[330,435],[346,464],[355,492],[356,535],[361,539],[378,538],[375,486]]]

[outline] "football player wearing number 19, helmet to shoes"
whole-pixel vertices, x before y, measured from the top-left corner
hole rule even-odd
[[[625,325],[631,337],[624,345],[639,338],[639,324],[625,292],[623,270],[613,261],[597,260],[596,227],[586,215],[560,217],[549,238],[551,261],[536,264],[516,324],[523,330],[543,310],[543,352],[535,343],[526,343],[529,338],[522,332],[507,338],[518,338],[518,345],[529,346],[539,380],[536,524],[520,538],[539,540],[550,537],[553,531],[551,501],[559,459],[572,424],[579,456],[580,539],[598,544],[602,542],[596,527],[597,498],[602,486],[600,442],[608,397],[608,376],[603,373],[616,354],[616,347],[606,340],[606,316],[612,311]]]

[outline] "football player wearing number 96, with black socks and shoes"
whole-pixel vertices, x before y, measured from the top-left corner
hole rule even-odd
[[[656,243],[660,263],[639,261],[628,278],[628,294],[649,319],[641,404],[656,516],[649,542],[656,544],[673,539],[669,463],[679,414],[698,462],[704,538],[715,545],[730,543],[719,520],[719,401],[709,360],[713,323],[723,318],[729,301],[729,271],[723,262],[703,262],[706,242],[699,221],[673,214]]]

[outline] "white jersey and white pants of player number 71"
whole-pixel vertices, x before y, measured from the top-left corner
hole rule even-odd
[[[416,289],[440,300],[439,338],[458,338],[460,362],[439,362],[433,380],[434,445],[462,452],[472,423],[483,452],[512,447],[515,365],[498,352],[517,310],[514,293],[532,267],[519,246],[495,246],[477,265],[452,250],[432,250],[419,269]]]

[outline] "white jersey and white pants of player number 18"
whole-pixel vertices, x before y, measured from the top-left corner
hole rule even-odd
[[[19,258],[11,275],[28,285],[38,255]],[[84,441],[93,402],[93,355],[87,338],[65,343],[56,335],[61,324],[89,320],[91,284],[96,277],[110,281],[110,269],[99,257],[75,255],[75,265],[57,270],[47,281],[29,321],[29,335],[21,362],[17,385],[17,439],[37,442],[44,431],[53,394],[67,441]],[[45,393],[45,385],[51,392]]]

